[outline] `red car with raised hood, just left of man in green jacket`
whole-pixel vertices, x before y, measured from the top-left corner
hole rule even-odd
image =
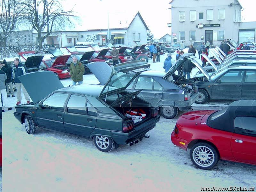
[[[70,55],[59,56],[56,59],[42,60],[39,68],[47,71],[52,71],[59,79],[70,77],[69,68],[66,67],[66,62]]]

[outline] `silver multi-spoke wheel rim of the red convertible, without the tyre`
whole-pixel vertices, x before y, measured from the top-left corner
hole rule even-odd
[[[199,146],[193,151],[193,160],[199,166],[209,167],[214,162],[214,154],[210,148]]]

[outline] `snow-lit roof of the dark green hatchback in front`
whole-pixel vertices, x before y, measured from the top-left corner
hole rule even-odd
[[[83,94],[83,95],[89,95],[92,97],[98,97],[100,95],[100,92],[103,89],[103,85],[100,84],[80,84],[80,85],[72,85],[68,87],[64,87],[61,89],[58,89],[57,91],[60,92],[69,92],[69,93],[77,93],[77,94]]]

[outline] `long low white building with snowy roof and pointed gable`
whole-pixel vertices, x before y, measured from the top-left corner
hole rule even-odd
[[[53,30],[44,40],[44,44],[58,47],[74,46],[76,42],[84,42],[87,36],[95,35],[97,41],[94,43],[103,45],[108,42],[108,20],[107,16],[102,20],[80,20],[75,21],[72,27],[62,30]],[[87,26],[87,28],[85,27]],[[109,37],[112,44],[134,45],[133,41],[140,41],[141,44],[147,43],[148,27],[143,20],[140,12],[134,15],[113,14],[109,17]],[[44,35],[45,32],[42,32]],[[37,32],[33,32],[33,39],[36,42]]]

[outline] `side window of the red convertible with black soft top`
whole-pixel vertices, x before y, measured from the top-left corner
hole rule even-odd
[[[236,117],[235,133],[256,137],[256,117]]]

